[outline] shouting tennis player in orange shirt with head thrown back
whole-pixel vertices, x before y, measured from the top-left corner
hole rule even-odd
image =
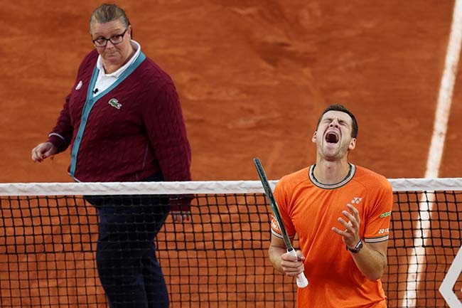
[[[343,105],[331,105],[318,120],[312,142],[316,163],[286,175],[274,189],[297,257],[286,253],[272,218],[269,259],[280,272],[304,272],[297,307],[387,307],[380,277],[387,266],[392,186],[373,171],[348,161],[358,123]]]

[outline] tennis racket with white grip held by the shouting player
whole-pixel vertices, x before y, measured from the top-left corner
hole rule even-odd
[[[264,188],[264,192],[267,194],[269,204],[271,205],[274,217],[279,225],[279,230],[281,230],[282,238],[284,239],[284,244],[286,245],[287,253],[291,255],[297,256],[297,253],[292,246],[291,240],[289,235],[287,235],[286,227],[284,226],[284,222],[282,221],[281,213],[279,213],[279,208],[277,207],[276,199],[273,196],[273,191],[271,186],[269,186],[269,182],[267,179],[267,175],[264,173],[262,163],[258,158],[254,158],[254,164],[257,168],[258,175],[260,177],[260,181],[262,181],[262,186]],[[305,277],[305,274],[302,272],[301,274],[297,275],[297,287],[306,287],[308,285],[308,280]]]

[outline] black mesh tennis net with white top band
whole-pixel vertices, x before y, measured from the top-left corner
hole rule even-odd
[[[388,307],[449,307],[439,288],[461,248],[462,181],[390,181]],[[154,240],[170,307],[294,307],[294,280],[267,257],[271,209],[257,181],[0,184],[0,307],[107,307],[89,196],[147,193],[193,196],[193,222],[168,216]],[[450,287],[462,299],[460,273]]]

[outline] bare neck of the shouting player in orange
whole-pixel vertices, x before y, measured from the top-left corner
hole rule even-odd
[[[313,176],[322,184],[331,185],[343,181],[350,173],[348,161],[316,161]]]

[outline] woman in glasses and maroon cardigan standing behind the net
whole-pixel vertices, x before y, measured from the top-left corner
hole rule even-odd
[[[48,140],[33,161],[70,148],[75,181],[189,181],[191,151],[170,76],[132,39],[124,10],[102,4],[90,16],[94,48],[80,64]],[[97,208],[97,269],[110,308],[167,308],[154,238],[168,212],[190,219],[188,198],[86,197]]]

